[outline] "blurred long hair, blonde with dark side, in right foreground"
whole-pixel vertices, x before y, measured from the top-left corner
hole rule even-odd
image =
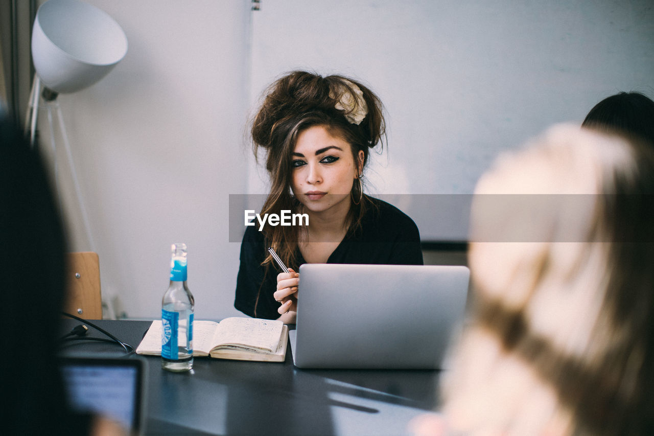
[[[477,184],[471,323],[443,381],[470,434],[654,429],[654,156],[555,126]]]

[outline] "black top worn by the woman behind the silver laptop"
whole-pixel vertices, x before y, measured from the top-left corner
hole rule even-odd
[[[345,235],[327,263],[422,265],[420,234],[413,220],[387,202],[368,198],[376,207],[368,208],[361,228]],[[241,243],[234,307],[252,317],[276,319],[279,318],[279,303],[273,293],[281,270],[277,265],[262,266],[267,254],[264,234],[256,227],[248,227]],[[300,249],[296,255],[298,265],[288,266],[297,271],[307,262]]]

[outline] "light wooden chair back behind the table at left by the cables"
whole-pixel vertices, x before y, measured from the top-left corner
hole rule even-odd
[[[100,261],[97,253],[68,253],[67,300],[64,312],[84,319],[102,319]]]

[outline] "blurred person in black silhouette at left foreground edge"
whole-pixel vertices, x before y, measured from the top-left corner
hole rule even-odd
[[[59,369],[67,242],[50,180],[20,130],[0,117],[1,433],[124,435],[115,422],[73,412]]]

